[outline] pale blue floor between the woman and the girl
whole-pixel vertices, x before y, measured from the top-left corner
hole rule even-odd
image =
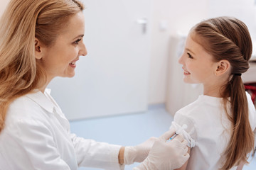
[[[95,118],[70,122],[71,131],[80,137],[109,142],[116,145],[138,145],[151,136],[158,137],[169,129],[172,116],[164,109],[164,105],[150,106],[145,113],[118,115],[107,118]],[[125,167],[132,170],[137,164]],[[80,168],[79,170],[96,170]],[[256,159],[244,170],[255,170]]]

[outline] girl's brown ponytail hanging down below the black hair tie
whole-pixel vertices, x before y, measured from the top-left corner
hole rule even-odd
[[[232,135],[230,143],[225,149],[226,161],[222,169],[231,169],[240,162],[247,162],[247,154],[254,148],[254,133],[250,127],[249,111],[245,86],[238,75],[228,82],[223,96],[230,96],[230,108],[232,115],[228,115],[232,123]]]

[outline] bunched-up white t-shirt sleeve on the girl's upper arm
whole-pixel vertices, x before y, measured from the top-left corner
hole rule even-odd
[[[171,123],[170,129],[174,128],[177,131],[182,128],[182,125],[187,125],[187,128],[182,130],[181,134],[183,135],[184,139],[188,141],[188,147],[195,147],[197,134],[193,120],[188,118],[186,115],[176,113],[174,116],[174,121]]]

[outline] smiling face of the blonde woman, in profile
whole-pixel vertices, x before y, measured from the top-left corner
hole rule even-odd
[[[53,45],[46,47],[41,64],[46,71],[47,79],[54,77],[73,77],[80,55],[87,55],[82,40],[85,32],[85,21],[82,12],[71,16],[68,26],[58,35]]]

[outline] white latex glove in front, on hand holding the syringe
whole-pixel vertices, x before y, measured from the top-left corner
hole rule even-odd
[[[154,142],[149,156],[133,170],[173,170],[180,168],[189,158],[188,142],[182,135],[177,135],[170,142],[166,142],[174,135],[174,130],[164,133]]]

